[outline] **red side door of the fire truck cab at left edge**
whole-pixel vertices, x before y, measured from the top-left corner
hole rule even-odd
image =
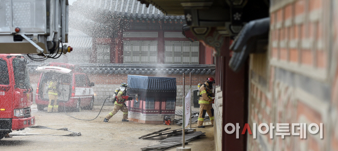
[[[12,117],[13,82],[10,71],[9,60],[0,57],[0,119]]]

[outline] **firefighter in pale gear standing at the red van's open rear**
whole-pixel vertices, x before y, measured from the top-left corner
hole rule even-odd
[[[55,75],[52,75],[52,79],[48,82],[48,98],[49,104],[47,112],[58,112],[59,105],[57,104],[58,100],[58,87],[59,83]]]

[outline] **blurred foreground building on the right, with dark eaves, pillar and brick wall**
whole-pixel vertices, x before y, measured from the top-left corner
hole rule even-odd
[[[338,1],[141,2],[184,14],[197,39],[216,50],[216,150],[338,149]],[[294,131],[282,138],[274,127],[273,138],[236,135],[261,123],[323,123],[326,130],[323,139]],[[236,134],[226,133],[228,124],[239,124]]]

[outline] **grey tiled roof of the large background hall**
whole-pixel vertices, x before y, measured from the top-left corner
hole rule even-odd
[[[81,4],[132,18],[185,19],[184,15],[167,16],[154,5],[150,4],[146,7],[146,4],[141,4],[136,0],[83,0]]]

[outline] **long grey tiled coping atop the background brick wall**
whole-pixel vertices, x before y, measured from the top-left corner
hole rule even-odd
[[[36,72],[42,63],[29,63],[28,70]],[[169,65],[169,64],[75,64],[76,68],[90,74],[215,74],[215,65]]]

